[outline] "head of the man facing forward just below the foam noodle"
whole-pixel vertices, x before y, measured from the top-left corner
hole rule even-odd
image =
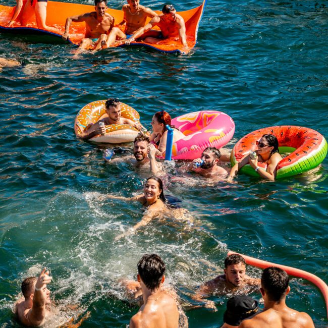
[[[243,285],[246,275],[246,262],[239,254],[231,254],[225,259],[225,275],[227,282],[235,287]]]

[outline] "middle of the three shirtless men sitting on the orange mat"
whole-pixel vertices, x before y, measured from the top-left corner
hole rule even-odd
[[[123,5],[123,21],[119,25],[125,25],[124,33],[119,27],[113,27],[107,37],[107,41],[102,41],[103,48],[109,47],[116,39],[125,40],[135,33],[140,27],[144,27],[147,17],[153,18],[157,14],[150,8],[141,6],[140,0],[128,0],[127,5]]]

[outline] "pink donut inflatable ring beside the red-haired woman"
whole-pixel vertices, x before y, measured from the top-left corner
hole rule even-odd
[[[173,159],[198,158],[206,147],[221,148],[226,145],[235,133],[232,118],[217,111],[185,114],[172,119],[171,125],[185,135],[173,143]]]

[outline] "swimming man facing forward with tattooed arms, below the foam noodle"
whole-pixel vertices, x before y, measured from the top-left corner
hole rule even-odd
[[[224,295],[241,290],[245,293],[259,288],[260,280],[246,275],[246,262],[239,254],[232,254],[226,257],[224,272],[224,275],[217,276],[201,285],[193,299],[201,302],[203,298],[209,297],[212,294]],[[205,307],[216,311],[213,301],[205,300],[204,303]]]

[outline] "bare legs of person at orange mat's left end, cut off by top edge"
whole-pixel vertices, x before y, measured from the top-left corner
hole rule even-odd
[[[47,17],[47,4],[48,0],[27,0],[23,9],[21,26],[26,26],[30,17],[35,14],[36,24],[39,29],[53,33],[60,33],[57,28],[45,24]]]

